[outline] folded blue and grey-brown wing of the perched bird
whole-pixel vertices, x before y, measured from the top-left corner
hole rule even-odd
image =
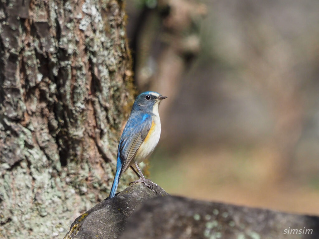
[[[152,115],[148,113],[131,114],[127,121],[118,148],[117,158],[120,158],[122,170],[119,178],[125,170],[130,167],[132,159],[136,155],[138,148],[145,140],[152,126]]]

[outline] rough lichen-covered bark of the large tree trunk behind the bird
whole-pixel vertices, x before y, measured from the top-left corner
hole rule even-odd
[[[123,1],[0,1],[1,238],[61,237],[107,197],[131,75]]]

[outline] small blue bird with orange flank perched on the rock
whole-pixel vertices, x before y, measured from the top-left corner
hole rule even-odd
[[[119,179],[128,167],[139,177],[139,180],[133,183],[142,182],[150,186],[137,164],[152,154],[159,141],[159,103],[165,98],[167,97],[157,92],[147,91],[135,99],[117,149],[116,172],[109,199],[115,196]],[[133,164],[141,176],[134,170]]]

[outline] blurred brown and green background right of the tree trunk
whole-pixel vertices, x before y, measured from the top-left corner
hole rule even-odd
[[[168,96],[152,181],[319,215],[319,1],[127,0],[138,91]]]

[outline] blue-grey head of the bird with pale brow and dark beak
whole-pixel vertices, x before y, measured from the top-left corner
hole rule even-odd
[[[162,99],[167,98],[166,96],[162,96],[161,94],[155,91],[146,91],[137,96],[135,102],[133,104],[134,110],[145,110],[149,112],[153,112],[158,109],[159,103]]]

